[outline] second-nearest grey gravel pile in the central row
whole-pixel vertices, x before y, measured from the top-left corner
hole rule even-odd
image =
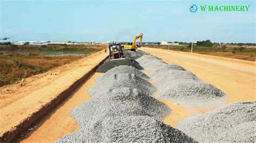
[[[116,116],[149,116],[161,120],[170,109],[157,99],[136,88],[111,89],[72,110],[71,116],[80,126],[90,121]]]

